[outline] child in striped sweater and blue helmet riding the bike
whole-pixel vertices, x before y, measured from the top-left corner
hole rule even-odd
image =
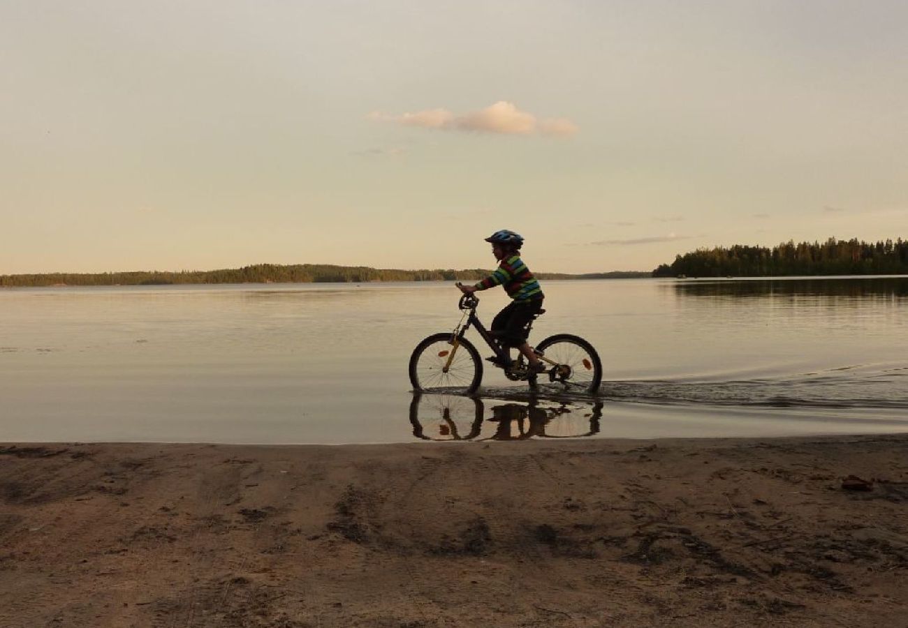
[[[472,294],[478,290],[503,286],[508,297],[513,300],[492,320],[492,335],[501,342],[508,355],[508,364],[500,366],[510,366],[510,348],[518,348],[524,358],[527,358],[530,371],[542,372],[545,366],[527,342],[526,327],[541,311],[543,294],[539,282],[520,259],[523,237],[504,229],[496,231],[486,241],[492,244],[492,254],[498,260],[498,269],[472,286],[459,285],[459,289],[464,294]],[[492,361],[498,362],[494,358]]]

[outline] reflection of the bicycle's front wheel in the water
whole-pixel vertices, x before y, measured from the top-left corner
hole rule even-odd
[[[413,436],[424,440],[470,440],[482,431],[479,397],[414,393],[410,402]]]

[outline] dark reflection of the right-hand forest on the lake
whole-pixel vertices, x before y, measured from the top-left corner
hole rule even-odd
[[[683,280],[670,284],[684,297],[908,297],[908,277],[825,280]]]

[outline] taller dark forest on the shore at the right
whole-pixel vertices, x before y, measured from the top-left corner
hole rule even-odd
[[[908,240],[864,242],[830,238],[789,240],[772,249],[735,245],[697,249],[662,264],[654,277],[778,277],[786,275],[901,275],[908,273]]]

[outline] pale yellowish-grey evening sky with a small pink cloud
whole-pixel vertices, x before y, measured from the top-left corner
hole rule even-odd
[[[0,0],[0,274],[908,238],[904,0]]]

